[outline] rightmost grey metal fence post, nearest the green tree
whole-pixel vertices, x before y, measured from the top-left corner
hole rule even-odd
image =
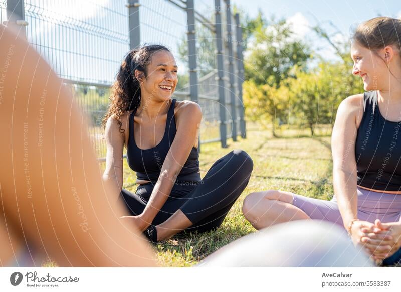
[[[245,139],[247,137],[246,132],[246,124],[245,124],[245,109],[244,109],[244,102],[242,100],[242,83],[244,82],[244,56],[243,56],[243,41],[242,41],[242,27],[240,25],[240,15],[238,13],[235,14],[235,23],[236,23],[236,32],[237,32],[237,68],[238,68],[238,81],[237,81],[237,88],[238,88],[238,98],[240,100],[240,129],[241,129],[241,136]]]

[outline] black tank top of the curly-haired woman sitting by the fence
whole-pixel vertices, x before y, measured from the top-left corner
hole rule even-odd
[[[174,108],[176,100],[173,99],[167,113],[167,122],[161,142],[154,148],[140,149],[134,139],[134,115],[129,116],[129,137],[127,147],[127,162],[129,167],[136,172],[140,180],[156,182],[159,178],[161,167],[174,140],[177,128],[175,126]],[[192,147],[188,159],[182,167],[176,182],[199,182],[199,152]]]

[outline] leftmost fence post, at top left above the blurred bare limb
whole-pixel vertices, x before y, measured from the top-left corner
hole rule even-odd
[[[7,26],[20,37],[27,39],[24,0],[7,0]]]

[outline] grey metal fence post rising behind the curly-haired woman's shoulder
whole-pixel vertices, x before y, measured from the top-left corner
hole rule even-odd
[[[196,35],[195,35],[195,7],[193,0],[186,1],[186,16],[188,24],[188,54],[189,54],[189,95],[191,101],[199,103],[197,92],[197,69],[196,69]],[[199,145],[200,151],[200,134]]]

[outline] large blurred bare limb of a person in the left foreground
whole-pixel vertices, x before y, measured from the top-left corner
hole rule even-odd
[[[38,53],[1,25],[0,40],[4,224],[60,266],[155,265],[147,241],[119,219],[123,206],[102,182],[71,94]]]

